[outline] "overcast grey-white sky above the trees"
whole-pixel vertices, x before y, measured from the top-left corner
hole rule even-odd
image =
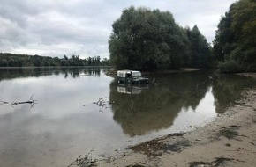
[[[236,0],[0,0],[0,52],[109,58],[112,24],[131,5],[170,11],[208,42]]]

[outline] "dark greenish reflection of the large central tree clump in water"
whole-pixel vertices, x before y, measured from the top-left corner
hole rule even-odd
[[[153,78],[159,84],[140,89],[140,93],[120,93],[116,81],[110,84],[110,99],[116,101],[112,105],[114,120],[125,134],[135,136],[169,128],[182,108],[199,105],[210,84],[207,72]]]

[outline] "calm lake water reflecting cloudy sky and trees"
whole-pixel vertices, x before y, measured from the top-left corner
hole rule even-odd
[[[158,84],[125,87],[107,70],[0,69],[0,166],[64,167],[89,152],[118,155],[215,120],[255,85],[245,76],[193,71],[151,74]],[[11,105],[31,97],[34,104]]]

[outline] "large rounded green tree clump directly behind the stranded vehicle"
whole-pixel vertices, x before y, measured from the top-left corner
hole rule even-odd
[[[110,62],[117,69],[177,69],[209,64],[211,50],[197,26],[192,30],[182,28],[169,11],[132,6],[112,27]]]

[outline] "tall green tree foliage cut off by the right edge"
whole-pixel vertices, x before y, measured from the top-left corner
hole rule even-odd
[[[240,0],[222,17],[214,41],[222,72],[256,71],[256,2]]]

